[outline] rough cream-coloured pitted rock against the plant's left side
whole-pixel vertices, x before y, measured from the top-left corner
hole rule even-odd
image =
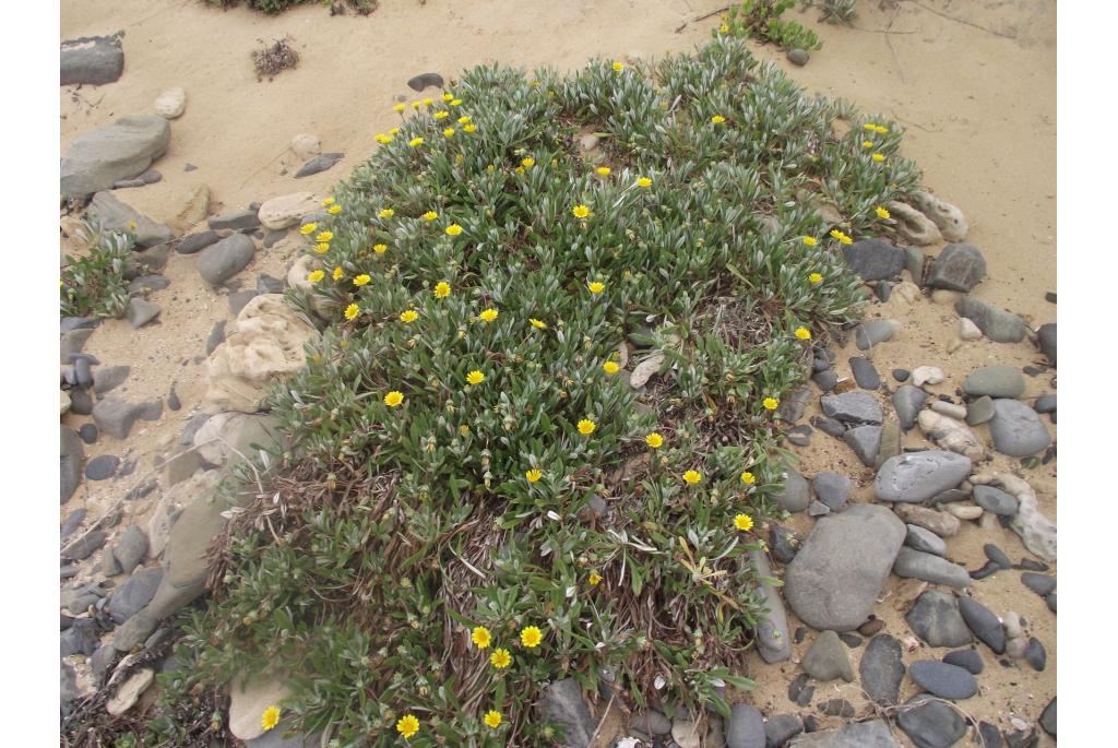
[[[210,354],[207,403],[226,410],[257,410],[276,378],[306,364],[303,348],[318,338],[282,295],[256,296],[229,325],[225,343]]]

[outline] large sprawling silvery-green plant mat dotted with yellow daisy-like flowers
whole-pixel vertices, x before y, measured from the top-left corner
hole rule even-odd
[[[397,108],[302,227],[323,335],[272,398],[285,448],[226,482],[178,688],[280,678],[262,719],[338,746],[548,745],[562,678],[727,712],[775,414],[858,316],[842,246],[917,187],[900,133],[732,35]]]

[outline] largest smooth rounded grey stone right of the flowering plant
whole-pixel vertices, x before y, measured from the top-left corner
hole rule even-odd
[[[788,604],[814,628],[856,628],[873,609],[903,540],[903,523],[883,506],[855,504],[821,519],[788,565]]]

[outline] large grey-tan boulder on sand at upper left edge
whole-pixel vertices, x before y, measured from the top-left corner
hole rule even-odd
[[[60,192],[84,200],[111,189],[119,179],[143,173],[171,141],[171,127],[160,116],[123,116],[76,138],[60,167]]]

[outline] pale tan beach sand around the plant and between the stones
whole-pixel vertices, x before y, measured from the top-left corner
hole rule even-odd
[[[709,38],[717,18],[691,22],[679,34],[675,29],[722,4],[720,0],[429,0],[426,4],[402,0],[383,3],[368,18],[331,18],[316,6],[267,18],[244,9],[211,10],[197,0],[63,0],[63,38],[125,31],[125,72],[107,86],[60,89],[61,145],[65,150],[79,133],[116,116],[150,112],[161,91],[182,86],[188,95],[186,114],[172,122],[170,150],[155,164],[163,181],[122,190],[121,199],[153,218],[167,219],[181,195],[198,183],[212,192],[211,212],[300,190],[325,196],[371,152],[371,135],[392,126],[397,115],[391,105],[415,97],[405,82],[417,73],[435,70],[451,78],[462,68],[498,59],[569,69],[597,55],[651,57],[688,50]],[[751,46],[761,58],[789,69],[808,91],[849,98],[908,127],[906,154],[923,168],[931,191],[965,211],[972,227],[968,240],[986,256],[991,277],[978,286],[977,295],[1022,314],[1034,326],[1055,321],[1055,306],[1044,301],[1044,293],[1055,290],[1055,3],[928,0],[921,7],[884,0],[879,7],[864,0],[860,6],[853,29],[819,25],[812,11],[793,13],[815,28],[824,42],[804,68],[789,65],[774,49]],[[892,32],[883,34],[885,29]],[[285,35],[300,51],[297,69],[257,82],[249,51],[260,39]],[[318,134],[324,151],[342,151],[347,158],[330,171],[296,181],[293,173],[300,162],[288,143],[301,132]],[[187,163],[197,170],[184,172]],[[258,272],[282,276],[293,248],[294,243],[284,243],[260,250],[238,280],[249,287]],[[935,254],[939,248],[927,250]],[[102,436],[87,447],[87,456],[129,455],[138,467],[124,479],[83,483],[63,508],[63,517],[87,506],[91,520],[97,518],[129,487],[150,480],[155,455],[199,408],[206,375],[199,357],[205,354],[206,337],[214,322],[231,315],[225,292],[206,286],[193,264],[193,257],[172,255],[164,272],[171,286],[152,296],[163,309],[158,323],[133,331],[126,322],[108,321],[86,344],[85,350],[105,364],[133,367],[115,394],[136,400],[163,397],[173,381],[183,408],[165,411],[155,424],[140,422],[123,442]],[[871,314],[904,323],[893,341],[871,354],[890,386],[896,386],[888,377],[894,367],[939,366],[948,377],[934,391],[955,397],[977,367],[1040,361],[1027,340],[1018,344],[980,340],[947,353],[956,324],[949,304],[921,299],[908,310],[887,313],[878,307]],[[849,373],[845,361],[854,354],[853,343],[839,351],[841,375]],[[1054,371],[1029,378],[1026,396],[1055,391],[1054,378]],[[809,409],[808,415],[816,411]],[[85,420],[74,415],[63,418],[74,428]],[[1054,438],[1055,427],[1050,429]],[[988,442],[985,427],[976,430]],[[906,445],[920,443],[919,432],[906,436]],[[871,498],[872,474],[845,445],[816,433],[812,446],[799,453],[806,476],[822,470],[861,474],[855,495]],[[1043,511],[1055,519],[1054,462],[1022,472],[1016,461],[998,457],[991,467],[1018,471],[1036,490]],[[158,492],[127,506],[119,530],[145,517],[157,500]],[[1012,532],[964,524],[949,541],[949,556],[968,568],[985,560],[984,542],[997,543],[1015,560],[1026,555]],[[789,526],[806,532],[811,520],[802,515]],[[1048,648],[1049,666],[1043,673],[1023,663],[1004,667],[983,648],[982,691],[960,704],[968,714],[1006,730],[1012,729],[1011,717],[1035,720],[1055,693],[1055,616],[1021,585],[1018,576],[999,572],[976,583],[970,594],[995,613],[1013,609],[1023,615]],[[902,615],[920,591],[920,583],[891,579],[877,609],[888,633],[908,635]],[[795,629],[798,622],[792,625]],[[808,635],[795,646],[794,661],[812,641]],[[855,667],[862,648],[852,651]],[[925,651],[909,657],[942,654]],[[787,700],[787,683],[799,671],[796,664],[769,666],[754,657],[750,665],[759,685],[747,700],[766,714],[814,711]],[[907,682],[902,695],[912,688]],[[856,683],[821,684],[814,702],[834,697],[864,704]],[[834,720],[824,718],[821,723],[828,721]],[[901,735],[899,739],[907,740]],[[1054,741],[1044,736],[1041,745]]]

